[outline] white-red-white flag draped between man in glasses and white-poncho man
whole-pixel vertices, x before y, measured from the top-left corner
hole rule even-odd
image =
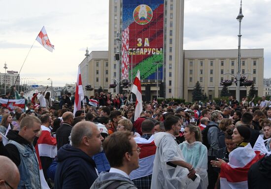
[[[139,168],[133,170],[129,175],[132,180],[152,174],[153,162],[156,153],[154,135],[152,135],[148,140],[141,137],[135,137],[134,139],[141,150],[139,154]]]

